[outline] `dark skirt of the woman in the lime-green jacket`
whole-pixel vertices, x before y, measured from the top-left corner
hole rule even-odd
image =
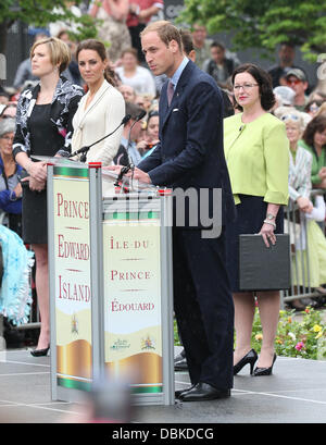
[[[235,221],[226,224],[226,269],[231,292],[239,289],[239,235],[260,233],[266,219],[267,202],[261,196],[239,195],[241,202],[236,206]],[[276,217],[274,233],[284,233],[284,208],[280,207]]]

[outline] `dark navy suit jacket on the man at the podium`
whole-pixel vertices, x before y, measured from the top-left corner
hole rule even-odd
[[[235,206],[223,148],[221,89],[191,61],[181,73],[170,107],[166,88],[167,83],[160,97],[160,143],[137,166],[148,172],[155,185],[210,189],[210,209],[212,190],[222,188],[225,224],[234,219]]]

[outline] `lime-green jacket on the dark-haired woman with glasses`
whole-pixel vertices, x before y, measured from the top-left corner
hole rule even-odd
[[[285,124],[271,113],[243,124],[242,113],[224,120],[224,150],[235,202],[240,194],[287,205],[289,141]]]

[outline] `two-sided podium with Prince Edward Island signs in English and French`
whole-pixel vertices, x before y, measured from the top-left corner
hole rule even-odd
[[[171,190],[115,182],[100,163],[48,162],[52,399],[123,379],[133,404],[173,405]]]

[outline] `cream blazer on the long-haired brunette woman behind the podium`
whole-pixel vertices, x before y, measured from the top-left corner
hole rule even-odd
[[[125,115],[122,94],[106,81],[85,109],[88,96],[89,92],[82,98],[73,119],[72,151],[89,146],[111,133]],[[123,126],[112,136],[92,146],[87,153],[86,162],[102,162],[102,165],[110,165],[118,150],[122,134]]]

